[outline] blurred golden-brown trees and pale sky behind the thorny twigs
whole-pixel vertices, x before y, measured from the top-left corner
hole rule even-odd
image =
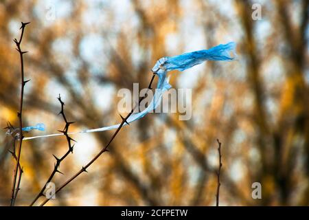
[[[252,19],[252,5],[262,19]],[[162,56],[238,44],[238,61],[208,61],[172,72],[192,89],[192,118],[151,113],[124,127],[89,173],[49,201],[52,206],[213,206],[222,142],[220,205],[309,205],[309,71],[306,0],[0,1],[0,126],[18,126],[20,64],[12,39],[25,29],[23,124],[56,133],[61,94],[71,131],[120,122],[117,91],[147,87]],[[40,131],[27,136],[42,134]],[[100,151],[113,131],[73,135],[60,186]],[[0,133],[0,204],[10,203],[12,138]],[[65,137],[23,142],[16,205],[29,205],[67,151]],[[253,199],[253,182],[262,199]]]

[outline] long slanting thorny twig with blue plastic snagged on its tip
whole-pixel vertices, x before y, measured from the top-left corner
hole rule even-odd
[[[156,76],[156,74],[153,73],[152,78],[151,78],[151,80],[150,80],[150,83],[149,83],[149,85],[148,85],[148,89],[152,89],[151,85],[152,85],[153,80],[155,79],[155,76]],[[147,94],[147,93],[146,93],[146,94]],[[139,99],[139,103],[137,104],[137,107],[139,107],[139,104],[141,103],[142,100],[144,100],[144,98],[146,98],[146,95],[145,95],[144,97],[142,97],[142,98]],[[108,146],[111,144],[111,142],[113,142],[113,140],[115,139],[115,137],[116,137],[117,134],[119,133],[120,129],[122,129],[122,126],[124,125],[124,123],[127,123],[127,124],[128,124],[128,122],[127,122],[126,120],[130,117],[130,115],[132,115],[132,113],[133,113],[133,111],[134,111],[135,108],[136,108],[136,107],[134,107],[134,108],[130,111],[130,113],[128,113],[128,115],[126,115],[125,118],[122,117],[122,115],[120,115],[120,117],[122,118],[122,122],[119,124],[117,130],[115,131],[115,133],[114,133],[113,136],[111,137],[111,140],[109,140],[109,142],[106,144],[106,146],[105,146],[104,148],[102,148],[102,150],[101,150],[97,155],[95,155],[95,157],[93,157],[93,159],[91,159],[91,161],[90,161],[86,166],[82,166],[82,168],[81,168],[75,175],[73,175],[71,178],[69,178],[67,181],[65,181],[65,183],[62,184],[62,186],[60,186],[60,187],[56,190],[55,194],[58,193],[60,190],[62,190],[62,188],[65,188],[65,186],[67,186],[71,181],[73,181],[74,179],[76,179],[76,177],[78,177],[80,174],[82,174],[82,173],[84,173],[84,172],[87,172],[87,168],[89,168],[89,166],[91,166],[91,164],[93,164],[93,162],[95,162],[95,160],[98,159],[98,158],[100,157],[100,155],[102,155],[102,153],[108,151],[108,149],[107,149]],[[47,203],[48,201],[49,201],[48,198],[45,199],[45,201],[43,201],[43,202],[41,203],[40,206],[44,206],[45,203]]]

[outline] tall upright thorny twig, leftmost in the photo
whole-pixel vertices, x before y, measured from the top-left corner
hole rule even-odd
[[[19,39],[19,41],[17,41],[17,39],[14,39],[14,42],[16,44],[16,50],[19,52],[19,56],[21,59],[21,99],[20,99],[20,104],[19,104],[19,112],[17,113],[18,117],[19,117],[19,148],[18,148],[18,154],[16,155],[17,159],[16,159],[16,166],[15,166],[15,170],[14,170],[14,177],[13,177],[13,184],[12,184],[12,196],[11,196],[11,203],[10,206],[14,205],[16,196],[17,196],[17,192],[19,192],[19,184],[21,183],[21,173],[22,173],[22,169],[20,170],[20,174],[19,174],[19,180],[16,181],[17,179],[17,173],[19,170],[19,161],[21,159],[21,144],[23,142],[23,120],[22,120],[22,112],[23,112],[23,89],[25,87],[25,84],[29,81],[29,80],[25,80],[24,79],[24,73],[23,73],[23,54],[27,53],[27,52],[23,52],[21,50],[21,41],[23,40],[23,32],[25,30],[25,26],[30,23],[21,23],[21,37]],[[18,185],[18,188],[16,188],[16,182]],[[16,190],[16,192],[15,192]]]

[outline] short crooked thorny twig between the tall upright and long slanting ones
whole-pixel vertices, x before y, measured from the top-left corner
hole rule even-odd
[[[33,206],[34,203],[38,200],[38,198],[40,198],[41,196],[44,196],[44,191],[46,189],[47,184],[50,181],[52,181],[52,179],[54,178],[54,175],[56,175],[56,173],[61,173],[58,168],[60,167],[60,163],[62,162],[62,160],[64,160],[69,155],[69,153],[73,153],[74,145],[71,144],[71,141],[75,142],[75,140],[73,140],[71,137],[69,137],[68,131],[69,131],[70,124],[73,124],[74,122],[68,122],[67,117],[65,116],[65,111],[64,111],[65,102],[62,102],[60,94],[59,94],[58,100],[61,104],[61,111],[59,112],[59,114],[61,114],[63,120],[65,120],[65,128],[60,132],[63,133],[65,135],[65,137],[67,138],[67,144],[68,144],[69,148],[67,149],[67,152],[64,155],[62,155],[62,157],[60,157],[60,158],[56,157],[56,155],[53,155],[56,159],[56,163],[54,165],[54,170],[52,171],[51,175],[49,175],[49,178],[45,182],[43,188],[41,189],[40,192],[38,192],[38,195],[36,195],[36,197],[34,198],[32,203],[30,204],[30,206]]]

